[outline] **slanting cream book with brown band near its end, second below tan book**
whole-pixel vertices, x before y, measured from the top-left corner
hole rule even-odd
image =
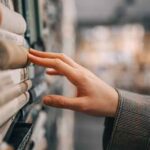
[[[0,94],[0,106],[5,105],[10,102],[12,99],[20,96],[25,93],[32,87],[32,82],[30,80],[20,83],[14,87],[9,88],[8,90],[4,90]]]

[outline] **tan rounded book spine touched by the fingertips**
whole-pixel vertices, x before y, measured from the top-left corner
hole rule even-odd
[[[0,40],[0,69],[18,69],[28,64],[28,49]]]

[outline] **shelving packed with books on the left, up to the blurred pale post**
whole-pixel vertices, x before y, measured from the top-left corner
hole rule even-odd
[[[61,52],[60,8],[60,1],[0,0],[0,150],[57,147],[61,111],[44,106],[41,99],[49,92],[62,93],[60,80],[51,81],[44,68],[29,64],[27,52]]]

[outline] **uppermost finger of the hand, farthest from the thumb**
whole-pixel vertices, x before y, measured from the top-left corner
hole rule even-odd
[[[74,66],[74,67],[77,66],[77,64],[71,58],[67,57],[66,55],[62,53],[41,52],[41,51],[30,49],[30,54],[37,56],[37,57],[41,57],[41,58],[51,58],[51,59],[58,58],[71,66]]]

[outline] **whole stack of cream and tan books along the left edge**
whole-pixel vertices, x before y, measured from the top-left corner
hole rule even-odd
[[[25,46],[25,19],[14,11],[12,0],[0,1],[0,144],[16,114],[29,102],[32,87]],[[4,146],[5,145],[5,146]]]

